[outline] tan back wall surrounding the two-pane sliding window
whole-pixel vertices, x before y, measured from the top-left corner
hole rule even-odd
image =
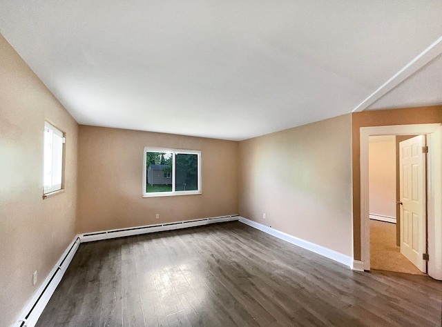
[[[145,146],[201,150],[202,195],[143,198]],[[238,214],[236,141],[79,126],[78,169],[78,232]]]

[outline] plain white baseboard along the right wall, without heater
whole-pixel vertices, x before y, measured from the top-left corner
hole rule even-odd
[[[309,241],[305,241],[304,239],[299,239],[298,237],[294,237],[292,235],[286,234],[285,232],[280,232],[279,230],[270,228],[268,226],[257,223],[256,221],[240,217],[240,222],[243,224],[249,225],[253,228],[261,230],[262,232],[267,232],[269,235],[273,235],[274,237],[278,237],[278,239],[282,239],[291,244],[299,246],[300,248],[305,248],[306,250],[310,250],[311,252],[315,252],[318,255],[323,255],[329,259],[340,262],[340,264],[345,264],[345,266],[349,266],[353,269],[354,260],[352,257],[348,255],[343,255],[340,252],[336,252],[335,250],[330,250],[329,248],[325,248],[324,246],[320,246],[318,244],[311,243]]]

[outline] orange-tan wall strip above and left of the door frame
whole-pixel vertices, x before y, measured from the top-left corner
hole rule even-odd
[[[442,123],[442,106],[373,110],[352,114],[354,259],[361,260],[361,166],[360,128],[369,126]]]

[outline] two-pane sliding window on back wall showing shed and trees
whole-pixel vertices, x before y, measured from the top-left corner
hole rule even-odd
[[[201,193],[201,151],[144,148],[144,197]]]

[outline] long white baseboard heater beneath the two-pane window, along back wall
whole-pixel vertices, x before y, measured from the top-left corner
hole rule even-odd
[[[104,230],[99,232],[88,232],[86,234],[79,235],[81,238],[81,243],[90,242],[90,241],[99,241],[102,239],[113,239],[117,237],[126,237],[126,236],[134,236],[134,235],[142,235],[148,234],[150,232],[162,232],[164,230],[175,230],[181,228],[189,228],[195,226],[204,226],[209,224],[220,223],[224,221],[235,221],[239,220],[239,215],[229,215],[222,217],[211,217],[204,219],[194,219],[194,220],[186,220],[186,221],[177,221],[173,223],[166,224],[155,224],[155,225],[146,225],[146,226],[137,226],[130,228],[121,228],[115,230]]]

